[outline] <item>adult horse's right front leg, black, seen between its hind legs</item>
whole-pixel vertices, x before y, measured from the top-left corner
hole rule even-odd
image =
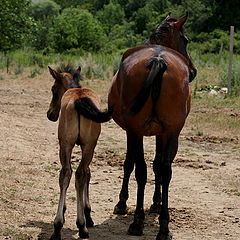
[[[156,154],[153,161],[153,172],[155,174],[155,191],[153,195],[153,204],[150,208],[150,213],[160,213],[162,196],[161,196],[161,182],[162,178],[160,175],[160,160],[162,156],[162,139],[160,136],[156,136]]]

